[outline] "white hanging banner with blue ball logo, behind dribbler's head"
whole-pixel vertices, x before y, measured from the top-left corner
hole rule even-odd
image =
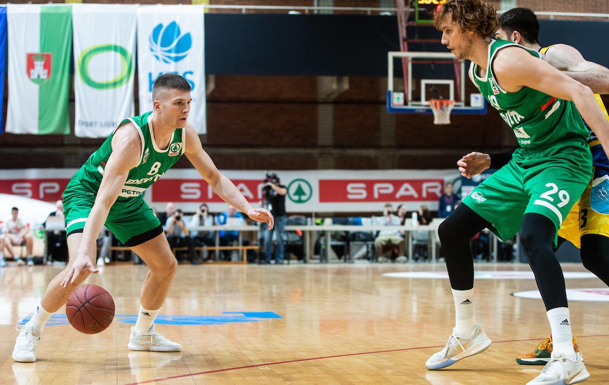
[[[206,132],[205,39],[202,5],[140,5],[138,15],[139,113],[152,110],[152,85],[167,72],[191,85],[188,122]]]

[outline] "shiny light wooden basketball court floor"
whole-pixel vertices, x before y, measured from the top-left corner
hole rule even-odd
[[[477,270],[528,270],[478,264]],[[44,328],[38,361],[10,358],[16,323],[28,317],[57,266],[0,269],[0,384],[525,384],[541,366],[519,366],[549,334],[541,300],[516,298],[535,281],[476,281],[477,317],[489,350],[440,371],[424,362],[454,324],[447,279],[385,272],[445,271],[443,264],[180,265],[157,330],[181,353],[127,350],[146,267],[110,265],[89,283],[114,297],[108,330],[81,334],[63,309]],[[584,271],[565,264],[565,271]],[[604,288],[597,278],[568,288]],[[609,383],[609,302],[571,302],[588,384]],[[232,313],[231,313],[232,312]],[[55,323],[55,325],[51,325]]]

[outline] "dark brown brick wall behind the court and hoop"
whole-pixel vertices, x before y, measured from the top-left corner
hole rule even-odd
[[[312,5],[313,2],[239,3]],[[518,5],[535,10],[572,12],[609,12],[608,3],[518,1]],[[211,4],[234,2],[212,0]],[[336,6],[378,4],[372,0],[334,2]],[[431,115],[388,115],[384,111],[386,78],[351,77],[347,91],[325,102],[319,101],[316,77],[216,76],[214,80],[215,88],[207,104],[208,133],[201,139],[222,169],[451,168],[457,158],[471,150],[499,151],[515,146],[512,133],[495,111],[485,116],[452,116],[450,126],[433,125]],[[5,108],[6,101],[4,116]],[[70,111],[73,122],[73,91]],[[74,135],[0,135],[0,167],[76,168],[102,141]],[[182,159],[177,166],[189,164]]]

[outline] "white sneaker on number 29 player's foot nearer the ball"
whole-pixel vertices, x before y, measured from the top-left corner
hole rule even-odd
[[[425,367],[429,370],[442,369],[451,366],[460,359],[477,355],[487,350],[491,345],[491,340],[484,333],[484,327],[479,323],[474,326],[474,331],[469,337],[456,336],[451,334],[445,347],[432,355]]]

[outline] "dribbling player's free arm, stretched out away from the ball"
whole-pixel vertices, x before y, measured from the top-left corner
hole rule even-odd
[[[199,174],[205,179],[209,186],[218,194],[224,202],[236,207],[238,210],[247,214],[248,217],[256,222],[265,222],[269,224],[269,229],[273,228],[275,219],[269,210],[264,208],[253,208],[241,192],[235,187],[224,174],[222,174],[214,164],[213,160],[203,150],[199,135],[195,132],[190,124],[184,127],[184,135],[186,135],[186,149],[184,154],[192,166],[194,166]]]

